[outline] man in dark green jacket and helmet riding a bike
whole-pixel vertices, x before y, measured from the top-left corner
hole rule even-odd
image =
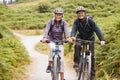
[[[83,40],[90,40],[94,41],[94,32],[97,34],[100,44],[104,45],[105,44],[105,39],[98,28],[97,24],[91,19],[86,16],[86,9],[83,6],[79,6],[76,8],[76,14],[77,14],[77,19],[75,19],[71,31],[71,38],[73,40],[78,39],[83,39]],[[77,36],[76,36],[77,34]],[[74,68],[78,67],[79,63],[79,54],[81,51],[81,45],[80,43],[76,43],[75,45],[75,52],[74,52]],[[95,70],[94,70],[94,43],[90,45],[90,50],[92,52],[92,80],[95,80]]]

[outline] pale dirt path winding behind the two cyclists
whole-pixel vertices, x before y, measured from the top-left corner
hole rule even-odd
[[[28,76],[27,80],[51,80],[51,74],[45,72],[48,56],[40,54],[35,50],[35,45],[39,43],[42,36],[24,36],[18,33],[14,34],[21,39],[21,42],[26,47],[32,60],[31,64],[26,67],[27,71],[25,74]],[[75,74],[73,69],[65,64],[65,79],[75,80],[74,76]]]

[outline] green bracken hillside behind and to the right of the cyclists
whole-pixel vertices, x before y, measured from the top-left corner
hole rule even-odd
[[[0,5],[0,27],[5,26],[7,30],[43,30],[47,21],[53,17],[53,10],[62,7],[65,12],[64,19],[71,28],[76,18],[75,8],[85,6],[87,13],[93,16],[102,30],[107,42],[102,47],[96,45],[97,77],[99,80],[117,80],[120,78],[119,4],[120,0],[19,0],[13,5]],[[0,33],[2,34],[0,37],[11,37],[5,32]],[[73,45],[65,45],[65,55],[70,58],[73,55]]]

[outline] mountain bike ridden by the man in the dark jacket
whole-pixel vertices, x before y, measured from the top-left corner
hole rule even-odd
[[[90,43],[98,43],[89,40],[77,39],[76,42],[82,43],[82,51],[80,54],[80,61],[78,69],[76,69],[77,80],[92,80],[92,53],[90,51]]]

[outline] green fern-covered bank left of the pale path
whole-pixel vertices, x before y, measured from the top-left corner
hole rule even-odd
[[[5,6],[0,5],[5,9]],[[30,62],[27,51],[9,27],[0,24],[0,80],[20,80],[24,65]]]

